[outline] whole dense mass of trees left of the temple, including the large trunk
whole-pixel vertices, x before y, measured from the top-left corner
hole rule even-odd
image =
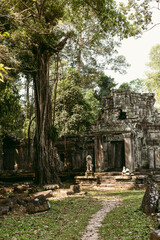
[[[25,137],[34,134],[38,183],[57,181],[52,136],[84,133],[99,111],[95,97],[100,101],[108,94],[104,88],[115,86],[104,70],[124,72],[128,65],[117,54],[120,40],[139,35],[150,21],[146,0],[126,5],[112,0],[1,0],[0,100],[3,108],[14,107],[1,112],[0,135],[19,129]],[[71,79],[73,74],[68,77],[68,67],[78,71],[81,84]],[[61,81],[67,85],[60,96]],[[68,96],[75,100],[70,84],[78,94],[75,104],[67,102]]]

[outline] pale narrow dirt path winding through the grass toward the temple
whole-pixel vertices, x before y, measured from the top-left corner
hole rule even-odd
[[[106,214],[119,205],[120,202],[121,200],[118,198],[103,201],[103,207],[92,215],[92,218],[80,240],[98,240],[98,228],[101,227],[103,219]]]

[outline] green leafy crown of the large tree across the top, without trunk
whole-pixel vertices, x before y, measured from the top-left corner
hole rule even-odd
[[[120,10],[122,6],[119,7],[112,0],[2,0],[0,21],[7,29],[6,31],[3,27],[3,35],[11,38],[10,45],[15,50],[12,59],[19,59],[22,63],[19,71],[36,72],[41,69],[37,62],[37,53],[47,51],[50,57],[60,52],[67,40],[73,39],[78,52],[88,48],[86,53],[84,51],[83,62],[87,65],[87,54],[90,54],[90,66],[93,69],[93,66],[97,67],[95,56],[106,56],[107,52],[111,56],[113,53],[113,36],[123,38],[136,34],[133,31],[135,23]],[[142,25],[141,22],[136,24]],[[104,39],[109,39],[106,49]],[[5,46],[8,54],[9,44]],[[80,63],[79,59],[77,61]]]

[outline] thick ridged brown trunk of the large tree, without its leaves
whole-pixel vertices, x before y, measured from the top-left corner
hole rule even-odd
[[[38,184],[58,182],[56,174],[56,159],[54,146],[49,137],[52,126],[51,91],[49,88],[49,59],[48,51],[37,51],[38,70],[34,80],[36,106],[35,134],[35,181]]]

